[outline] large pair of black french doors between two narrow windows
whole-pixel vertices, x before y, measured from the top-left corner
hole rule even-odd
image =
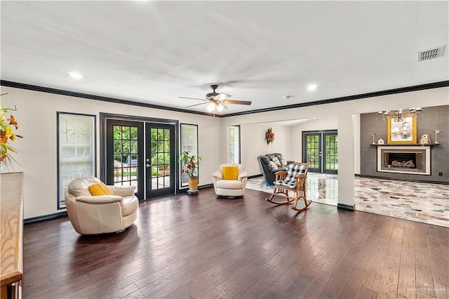
[[[175,193],[175,125],[106,119],[107,185],[134,186],[139,199]]]

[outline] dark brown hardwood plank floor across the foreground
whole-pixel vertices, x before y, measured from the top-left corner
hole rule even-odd
[[[25,225],[24,298],[449,298],[449,229],[213,188],[141,202],[121,234]]]

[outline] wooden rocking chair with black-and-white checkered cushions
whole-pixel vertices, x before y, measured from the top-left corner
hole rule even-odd
[[[278,171],[274,180],[274,190],[267,201],[272,204],[290,204],[293,203],[293,210],[304,211],[311,204],[311,200],[306,197],[307,163],[294,162],[288,166],[288,171]],[[288,194],[293,192],[293,197]],[[274,201],[273,198],[284,197],[284,201]]]

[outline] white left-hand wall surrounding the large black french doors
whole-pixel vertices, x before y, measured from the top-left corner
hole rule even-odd
[[[19,165],[14,171],[24,172],[25,218],[58,213],[57,178],[57,127],[56,112],[93,114],[97,116],[97,132],[100,130],[100,112],[126,114],[139,117],[174,119],[180,123],[199,125],[199,154],[203,157],[199,173],[200,185],[212,183],[210,173],[222,162],[224,154],[220,145],[225,144],[220,134],[221,121],[215,117],[171,112],[132,105],[121,105],[98,100],[87,100],[65,95],[27,91],[1,86],[3,105],[17,106],[13,112],[18,121],[18,138],[13,146]],[[100,134],[97,133],[97,173],[100,174]],[[64,210],[62,210],[64,211]]]

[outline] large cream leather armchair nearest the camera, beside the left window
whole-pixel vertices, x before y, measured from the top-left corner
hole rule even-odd
[[[107,186],[114,195],[93,196],[89,186],[98,182],[94,177],[75,178],[65,192],[67,214],[79,234],[121,232],[137,218],[139,200],[133,186]]]

